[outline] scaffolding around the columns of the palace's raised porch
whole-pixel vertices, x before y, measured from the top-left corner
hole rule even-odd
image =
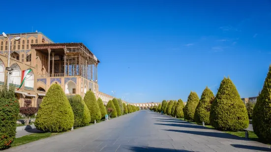
[[[64,76],[82,76],[97,80],[98,60],[84,45],[66,46],[64,49]]]

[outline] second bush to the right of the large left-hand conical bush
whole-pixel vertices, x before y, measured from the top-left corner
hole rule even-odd
[[[101,111],[98,105],[98,102],[96,101],[96,97],[92,91],[87,91],[84,101],[87,104],[89,110],[90,110],[90,123],[94,123],[94,121],[101,120]]]

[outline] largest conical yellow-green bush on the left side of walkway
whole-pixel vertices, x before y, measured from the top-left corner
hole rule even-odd
[[[35,120],[39,130],[62,132],[74,123],[71,105],[59,84],[53,84],[43,98]]]

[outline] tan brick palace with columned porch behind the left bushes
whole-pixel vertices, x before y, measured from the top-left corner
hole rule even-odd
[[[8,47],[10,47],[9,84],[15,86],[15,95],[24,105],[25,99],[32,100],[32,106],[38,107],[52,84],[59,84],[67,95],[81,95],[91,90],[99,97],[97,67],[100,62],[83,43],[54,43],[41,32],[0,35],[0,84],[7,80],[5,69],[8,65]],[[20,40],[14,38],[20,36]],[[31,69],[23,86],[23,70]],[[101,97],[101,96],[100,96]],[[106,98],[104,98],[105,100]],[[104,101],[103,100],[103,101]]]

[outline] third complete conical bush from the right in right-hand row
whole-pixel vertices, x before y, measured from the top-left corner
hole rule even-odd
[[[199,97],[197,95],[196,92],[190,92],[187,102],[186,102],[186,106],[184,108],[184,118],[186,120],[194,120],[194,114],[195,114],[195,110],[196,107],[199,103]]]

